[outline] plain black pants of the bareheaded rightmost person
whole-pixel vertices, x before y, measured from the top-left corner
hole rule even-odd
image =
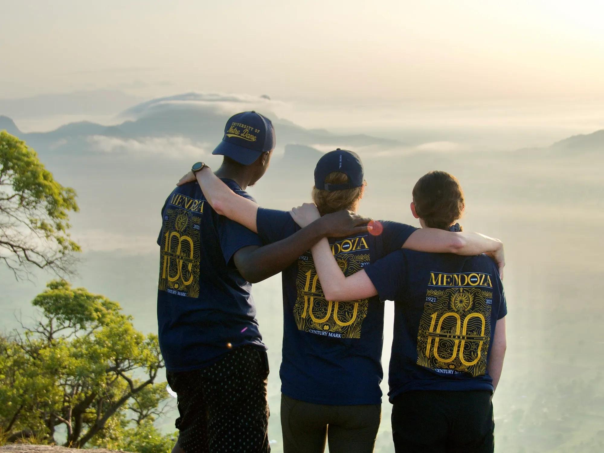
[[[408,391],[394,398],[396,453],[493,453],[491,393]]]

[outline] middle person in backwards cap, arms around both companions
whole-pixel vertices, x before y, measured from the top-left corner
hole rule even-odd
[[[210,170],[196,176],[189,173],[179,184],[194,177],[213,208],[257,231],[267,244],[263,248],[297,240],[314,223],[329,222],[331,216],[347,212],[342,210],[356,211],[365,188],[363,165],[356,153],[341,149],[326,153],[316,164],[312,191],[321,217],[301,230],[288,211],[265,209],[234,196]],[[388,221],[374,225],[371,234],[326,234],[346,275],[402,247],[477,254],[501,245],[472,233],[418,230]],[[381,419],[384,305],[378,298],[326,300],[307,249],[283,268],[282,281],[284,452],[322,453],[329,442],[331,453],[370,453]]]

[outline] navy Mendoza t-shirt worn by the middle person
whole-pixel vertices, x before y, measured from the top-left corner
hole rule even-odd
[[[329,240],[346,275],[400,249],[416,230],[403,223],[382,224],[380,236],[361,233]],[[258,210],[257,225],[265,243],[277,242],[300,229],[288,212],[263,208]],[[329,405],[381,403],[384,304],[377,298],[327,301],[310,251],[281,275],[283,394]]]

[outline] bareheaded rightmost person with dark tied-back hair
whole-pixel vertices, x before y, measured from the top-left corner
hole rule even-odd
[[[411,211],[423,228],[461,231],[464,208],[449,173],[430,172],[413,189]],[[319,214],[305,206],[293,215],[306,225]],[[388,396],[396,451],[493,452],[491,397],[507,314],[495,263],[485,255],[399,250],[347,277],[327,240],[312,255],[327,299],[395,301]]]

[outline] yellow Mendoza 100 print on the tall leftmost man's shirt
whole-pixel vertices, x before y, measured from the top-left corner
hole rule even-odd
[[[159,289],[179,296],[199,297],[200,214],[204,201],[173,194],[164,211]]]

